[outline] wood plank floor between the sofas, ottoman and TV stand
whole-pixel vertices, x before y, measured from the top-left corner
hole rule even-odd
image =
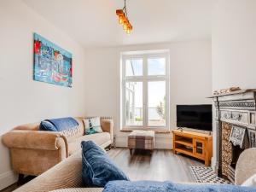
[[[130,177],[131,181],[195,182],[189,166],[204,166],[201,160],[182,154],[173,154],[172,150],[164,149],[154,149],[152,154],[150,151],[136,150],[130,155],[127,148],[113,148],[108,151],[108,155]],[[17,189],[17,183],[1,192],[15,189]]]

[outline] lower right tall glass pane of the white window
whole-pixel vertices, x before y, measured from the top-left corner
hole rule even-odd
[[[166,82],[148,82],[148,126],[166,125]]]

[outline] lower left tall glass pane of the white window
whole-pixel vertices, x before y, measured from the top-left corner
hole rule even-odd
[[[143,82],[125,84],[126,125],[143,125]]]

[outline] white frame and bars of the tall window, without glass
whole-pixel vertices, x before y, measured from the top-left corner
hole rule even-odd
[[[165,58],[166,59],[166,74],[165,75],[148,75],[148,59],[149,58]],[[125,76],[125,61],[131,59],[143,59],[143,76]],[[122,54],[121,55],[121,129],[123,130],[170,130],[170,94],[169,94],[169,52],[168,51],[149,51],[140,54]],[[143,82],[143,125],[126,125],[125,115],[125,84],[127,82]],[[149,126],[148,125],[148,82],[150,81],[165,81],[166,82],[166,125],[165,126]]]

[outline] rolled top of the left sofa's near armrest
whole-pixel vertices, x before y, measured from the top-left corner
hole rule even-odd
[[[9,131],[3,135],[3,144],[9,148],[31,148],[42,150],[58,150],[59,148],[66,148],[66,156],[68,156],[67,138],[61,133],[53,131]]]

